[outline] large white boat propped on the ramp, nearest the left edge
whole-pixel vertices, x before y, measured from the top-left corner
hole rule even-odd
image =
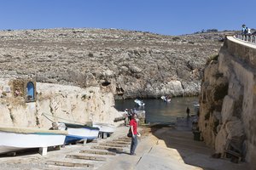
[[[41,154],[47,154],[47,147],[64,144],[67,132],[31,127],[0,127],[0,154],[40,148]]]

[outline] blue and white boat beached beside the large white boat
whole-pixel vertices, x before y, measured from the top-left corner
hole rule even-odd
[[[65,139],[65,144],[71,144],[79,140],[87,139],[97,139],[99,134],[98,127],[90,127],[86,125],[73,124],[73,123],[58,123],[59,129],[67,130],[67,136]],[[60,128],[61,127],[61,128]]]

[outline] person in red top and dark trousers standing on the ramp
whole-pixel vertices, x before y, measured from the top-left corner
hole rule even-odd
[[[136,114],[133,114],[131,116],[130,128],[132,133],[130,154],[131,156],[136,156],[135,154],[135,150],[137,147],[137,115]]]

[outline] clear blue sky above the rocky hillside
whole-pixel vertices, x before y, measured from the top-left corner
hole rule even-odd
[[[0,0],[0,30],[118,28],[165,35],[256,28],[256,1]]]

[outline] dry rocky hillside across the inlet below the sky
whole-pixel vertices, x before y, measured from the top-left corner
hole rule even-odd
[[[115,29],[0,31],[0,77],[98,86],[118,98],[196,95],[227,32],[179,37]]]

